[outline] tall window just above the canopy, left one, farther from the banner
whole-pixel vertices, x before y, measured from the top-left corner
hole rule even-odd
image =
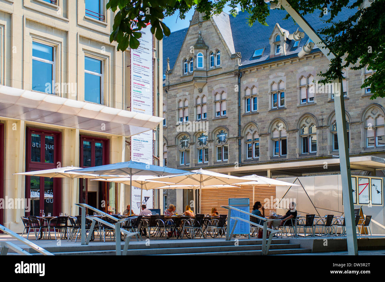
[[[32,90],[55,94],[55,48],[32,41]]]

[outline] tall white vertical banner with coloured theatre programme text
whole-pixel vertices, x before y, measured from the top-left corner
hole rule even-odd
[[[153,58],[151,25],[142,29],[138,49],[131,49],[131,111],[142,114],[153,114]],[[152,165],[153,133],[147,131],[131,137],[131,159]],[[142,203],[141,189],[132,187],[131,207],[134,213],[140,212],[140,205],[146,204],[153,208],[153,191],[143,190]]]

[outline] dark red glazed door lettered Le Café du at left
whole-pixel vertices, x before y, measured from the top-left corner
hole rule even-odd
[[[48,170],[61,166],[61,133],[27,128],[26,171]],[[25,197],[30,201],[27,215],[52,216],[61,212],[61,178],[25,177]]]

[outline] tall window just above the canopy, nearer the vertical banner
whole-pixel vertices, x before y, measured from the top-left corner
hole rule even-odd
[[[84,57],[84,100],[103,104],[103,62]]]

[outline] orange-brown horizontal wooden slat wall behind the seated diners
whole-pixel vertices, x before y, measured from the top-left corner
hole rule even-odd
[[[223,188],[223,189],[203,189],[201,194],[201,213],[211,213],[211,208],[216,207],[219,214],[227,214],[227,210],[221,206],[229,205],[229,198],[249,198],[250,212],[253,210],[254,202],[260,201],[262,206],[266,203],[265,199],[276,198],[275,186],[255,187],[253,201],[253,187],[244,188]],[[272,207],[272,205],[269,205]],[[262,210],[260,210],[262,212]],[[265,215],[276,209],[265,208]]]

